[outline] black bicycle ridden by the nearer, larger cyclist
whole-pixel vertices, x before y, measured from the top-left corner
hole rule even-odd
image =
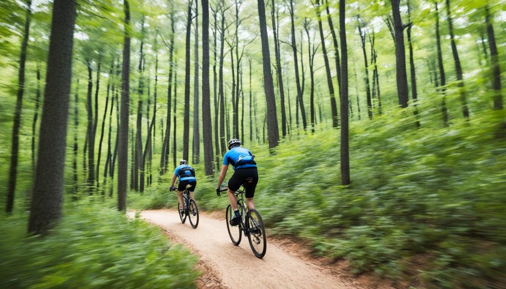
[[[227,191],[228,188],[221,189],[220,192]],[[244,232],[244,236],[248,237],[249,246],[251,247],[251,251],[258,258],[262,259],[265,256],[267,251],[267,237],[265,235],[265,227],[264,221],[260,216],[260,213],[255,210],[247,210],[244,203],[244,185],[241,186],[241,189],[235,192],[235,196],[237,197],[237,204],[239,213],[241,215],[241,222],[237,226],[230,225],[230,219],[234,216],[234,211],[232,210],[231,205],[229,204],[227,207],[227,215],[225,216],[225,220],[227,221],[227,229],[230,239],[234,245],[239,245],[242,238],[242,232]]]

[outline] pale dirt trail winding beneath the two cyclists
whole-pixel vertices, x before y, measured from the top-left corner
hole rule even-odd
[[[247,238],[239,246],[230,241],[227,225],[215,214],[200,213],[197,229],[188,220],[181,224],[172,210],[143,211],[141,217],[160,226],[175,242],[183,243],[200,257],[199,267],[204,276],[197,282],[200,288],[363,288],[345,275],[317,262],[300,258],[297,252],[280,241],[267,239],[267,254],[263,259],[253,255]],[[293,247],[291,247],[293,250]]]

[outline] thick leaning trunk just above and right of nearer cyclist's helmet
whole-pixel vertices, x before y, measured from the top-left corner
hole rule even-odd
[[[264,64],[264,90],[267,102],[267,133],[269,135],[269,148],[274,148],[279,142],[278,117],[276,115],[276,99],[271,74],[271,56],[269,53],[269,38],[265,18],[264,0],[258,0],[258,14],[260,20],[260,35],[262,38],[262,57]],[[294,39],[293,39],[294,42]]]

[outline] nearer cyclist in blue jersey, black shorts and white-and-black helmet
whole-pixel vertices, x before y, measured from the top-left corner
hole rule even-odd
[[[255,156],[251,152],[241,147],[241,141],[238,139],[231,139],[228,142],[229,151],[223,156],[223,167],[216,186],[216,193],[220,195],[220,186],[223,180],[227,176],[227,170],[229,164],[232,164],[234,174],[228,181],[228,199],[230,205],[234,210],[234,216],[230,219],[230,225],[237,226],[240,223],[240,214],[237,208],[237,197],[235,191],[244,184],[246,190],[246,206],[248,210],[255,209],[253,204],[253,196],[255,195],[255,188],[258,183],[258,170],[257,163],[255,162]]]

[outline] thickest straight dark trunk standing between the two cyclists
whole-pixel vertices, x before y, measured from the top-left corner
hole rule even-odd
[[[213,139],[209,88],[209,0],[202,0],[202,134],[204,174],[213,175]]]

